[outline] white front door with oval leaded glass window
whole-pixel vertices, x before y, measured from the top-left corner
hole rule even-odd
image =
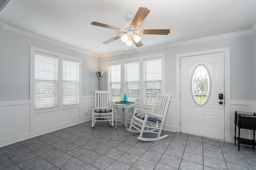
[[[180,131],[224,140],[224,52],[180,58]]]

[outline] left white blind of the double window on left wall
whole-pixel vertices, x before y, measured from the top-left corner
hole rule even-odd
[[[58,58],[49,55],[35,55],[34,69],[35,109],[58,106]]]

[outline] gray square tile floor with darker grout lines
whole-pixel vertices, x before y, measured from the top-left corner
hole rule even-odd
[[[256,150],[163,131],[144,142],[108,122],[91,121],[0,148],[0,170],[256,170]],[[151,134],[147,134],[146,137]],[[154,135],[154,134],[153,134]]]

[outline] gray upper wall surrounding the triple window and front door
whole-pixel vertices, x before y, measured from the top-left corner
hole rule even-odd
[[[231,100],[255,100],[255,70],[254,45],[255,36],[253,34],[177,47],[168,47],[144,51],[141,53],[131,53],[127,55],[105,57],[100,59],[100,68],[106,71],[106,62],[120,60],[124,58],[140,57],[157,53],[165,53],[166,71],[166,91],[172,92],[172,98],[176,98],[176,54],[193,51],[203,51],[230,47],[230,81]],[[102,87],[106,87],[106,77],[102,79]]]

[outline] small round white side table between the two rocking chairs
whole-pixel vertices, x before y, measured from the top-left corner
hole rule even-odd
[[[132,112],[133,112],[133,108],[135,106],[135,102],[127,102],[127,103],[124,103],[124,102],[116,102],[114,104],[114,107],[116,107],[115,109],[115,113],[117,115],[117,108],[122,108],[123,110],[123,123],[118,123],[117,124],[117,120],[116,120],[116,128],[117,128],[117,125],[125,125],[125,129],[127,131],[127,114],[128,114],[128,108],[132,108]],[[125,111],[125,121],[124,121],[124,108],[126,108],[126,111]]]

